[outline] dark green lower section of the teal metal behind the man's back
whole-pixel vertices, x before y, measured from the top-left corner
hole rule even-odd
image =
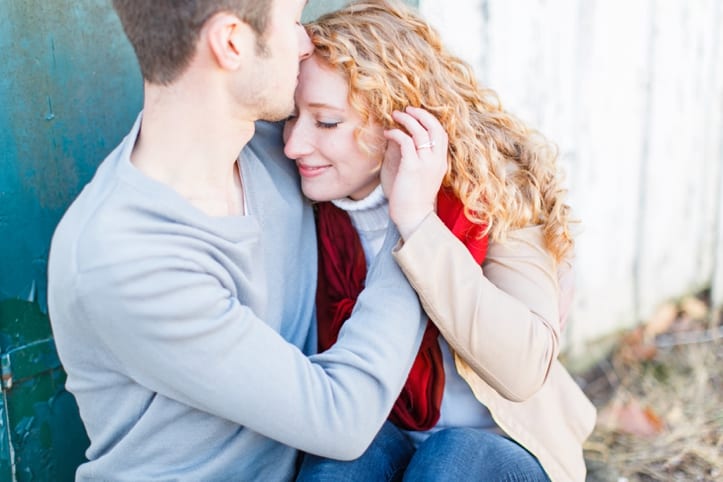
[[[0,304],[1,480],[73,480],[88,438],[50,337],[47,316],[31,303]]]

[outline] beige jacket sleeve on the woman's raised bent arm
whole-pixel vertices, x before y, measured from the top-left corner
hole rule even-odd
[[[482,269],[431,214],[395,257],[450,346],[500,395],[523,401],[559,351],[555,262],[541,229],[490,243]]]

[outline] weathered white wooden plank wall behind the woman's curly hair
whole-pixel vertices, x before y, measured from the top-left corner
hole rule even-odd
[[[582,220],[573,350],[711,287],[723,304],[723,2],[421,0],[560,148]]]

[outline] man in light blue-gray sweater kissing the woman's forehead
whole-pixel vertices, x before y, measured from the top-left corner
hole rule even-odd
[[[276,126],[255,125],[292,110],[312,50],[304,1],[113,5],[143,112],[49,259],[51,322],[91,440],[76,477],[286,480],[297,449],[359,456],[424,322],[390,231],[337,345],[311,354],[312,210]]]

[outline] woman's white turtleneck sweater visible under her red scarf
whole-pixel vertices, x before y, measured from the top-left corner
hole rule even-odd
[[[331,202],[349,214],[354,228],[359,233],[368,268],[382,247],[384,234],[390,221],[389,204],[381,185],[377,186],[364,199],[355,201],[343,198]],[[496,429],[497,427],[487,408],[475,398],[469,385],[457,373],[452,351],[441,335],[439,337],[439,347],[444,360],[445,376],[439,421],[434,428],[425,432],[407,431],[407,434],[417,446],[432,433],[445,428]]]

